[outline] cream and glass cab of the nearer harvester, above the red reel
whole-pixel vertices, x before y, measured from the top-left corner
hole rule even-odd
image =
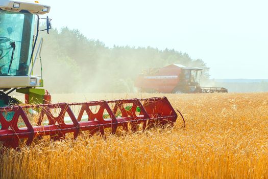
[[[33,75],[36,60],[40,60],[42,39],[37,46],[39,15],[48,13],[50,6],[37,1],[0,0],[0,106],[20,103],[9,94],[16,90],[25,94],[28,102],[44,103],[45,91],[41,76]],[[37,32],[34,33],[37,17]],[[50,21],[45,18],[48,30]],[[41,30],[42,31],[42,30]],[[36,53],[36,54],[34,54]],[[29,100],[30,99],[30,100]]]

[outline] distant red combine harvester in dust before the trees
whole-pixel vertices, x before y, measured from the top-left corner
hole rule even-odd
[[[201,87],[202,71],[201,68],[170,64],[161,69],[144,70],[135,86],[149,93],[228,93],[224,87]]]

